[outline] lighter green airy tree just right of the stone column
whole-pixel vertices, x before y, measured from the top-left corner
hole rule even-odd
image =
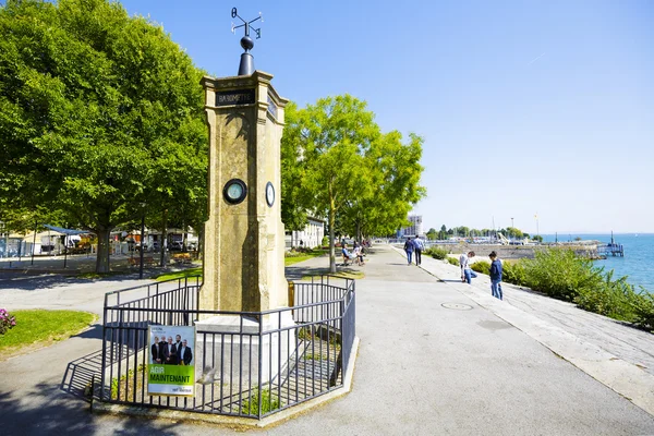
[[[282,203],[282,209],[289,222],[298,209],[327,216],[335,272],[337,231],[358,237],[392,232],[424,196],[419,185],[422,138],[410,135],[402,144],[399,132],[382,134],[366,104],[350,95],[323,98],[296,112],[292,108],[289,116],[282,143],[294,145],[282,146],[282,162],[298,168],[282,171],[288,180],[282,191],[293,202]],[[302,192],[289,192],[291,184]]]

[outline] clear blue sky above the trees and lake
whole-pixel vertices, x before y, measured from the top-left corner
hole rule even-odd
[[[279,94],[349,93],[424,137],[425,230],[654,232],[652,1],[121,3],[215,76],[238,71],[231,8],[263,12],[254,62]]]

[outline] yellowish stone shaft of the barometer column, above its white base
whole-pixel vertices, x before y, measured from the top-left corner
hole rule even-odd
[[[201,308],[259,312],[288,306],[280,208],[283,107],[271,75],[204,77],[209,125],[208,211]],[[244,183],[241,203],[226,197]],[[271,187],[267,189],[268,183]],[[271,199],[267,194],[274,194]]]

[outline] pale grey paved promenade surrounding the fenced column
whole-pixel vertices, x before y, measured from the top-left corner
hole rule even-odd
[[[249,433],[654,435],[654,412],[645,411],[654,398],[654,336],[510,286],[499,302],[483,276],[468,286],[455,266],[427,257],[420,268],[407,266],[386,245],[368,257],[352,267],[366,275],[356,282],[361,346],[352,391]],[[327,265],[314,258],[287,268],[287,276]],[[0,276],[0,306],[101,313],[104,292],[133,283]],[[233,434],[207,424],[90,414],[73,380],[93,367],[99,331],[96,326],[1,363],[3,434]]]

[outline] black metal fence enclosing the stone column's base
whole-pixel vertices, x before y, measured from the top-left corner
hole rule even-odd
[[[296,282],[291,307],[265,312],[199,310],[201,284],[193,277],[107,293],[96,399],[261,419],[342,387],[355,337],[353,280]],[[155,325],[196,326],[193,397],[147,393]]]

